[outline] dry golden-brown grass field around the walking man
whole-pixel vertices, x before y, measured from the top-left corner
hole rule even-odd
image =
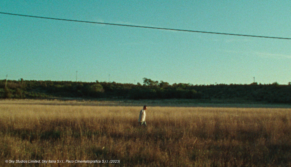
[[[290,108],[141,109],[2,100],[0,166],[291,166]]]

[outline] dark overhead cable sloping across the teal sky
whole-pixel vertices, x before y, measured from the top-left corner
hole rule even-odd
[[[160,30],[186,31],[186,32],[195,32],[195,33],[209,33],[209,34],[219,34],[219,35],[236,35],[236,36],[246,36],[246,37],[275,38],[275,39],[291,40],[291,38],[282,38],[282,37],[270,37],[270,36],[259,36],[259,35],[244,35],[244,34],[232,34],[232,33],[217,33],[217,32],[207,32],[207,31],[194,31],[194,30],[183,30],[183,29],[159,28],[159,27],[150,27],[150,26],[135,26],[135,25],[128,25],[128,24],[89,22],[89,21],[81,21],[81,20],[59,19],[59,18],[40,17],[40,16],[31,16],[31,15],[20,15],[20,14],[3,13],[3,12],[0,12],[0,14],[24,16],[24,17],[34,17],[34,18],[40,18],[40,19],[53,19],[53,20],[70,21],[70,22],[82,22],[82,23],[106,24],[106,25],[114,25],[114,26],[138,27],[138,28],[146,28],[146,29],[160,29]]]

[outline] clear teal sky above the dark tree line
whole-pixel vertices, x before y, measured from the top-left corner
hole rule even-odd
[[[290,1],[1,0],[0,12],[291,38]],[[0,14],[0,79],[287,84],[291,40]]]

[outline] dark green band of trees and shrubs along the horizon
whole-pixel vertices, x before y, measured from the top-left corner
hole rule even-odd
[[[2,99],[123,98],[123,99],[237,99],[269,103],[291,103],[291,85],[216,84],[193,85],[153,81],[143,78],[143,84],[116,82],[18,81],[0,80]]]

